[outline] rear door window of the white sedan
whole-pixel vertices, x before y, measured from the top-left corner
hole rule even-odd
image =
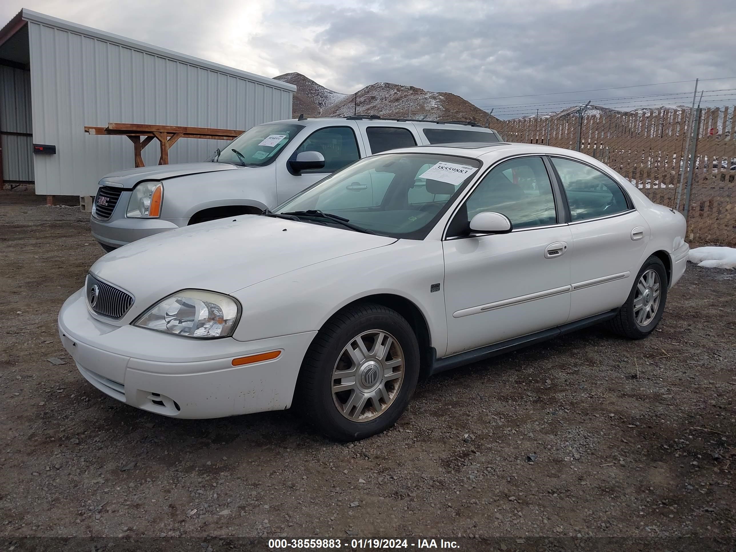
[[[621,188],[601,171],[570,159],[551,159],[565,188],[573,222],[629,210]]]

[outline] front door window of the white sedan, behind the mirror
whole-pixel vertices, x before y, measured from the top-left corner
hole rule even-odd
[[[514,228],[556,224],[552,183],[542,158],[500,163],[481,180],[457,216],[469,223],[473,216],[484,211],[503,213]],[[453,221],[453,227],[467,228],[467,224]]]

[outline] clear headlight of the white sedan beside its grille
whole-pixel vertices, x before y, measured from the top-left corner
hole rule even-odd
[[[240,305],[228,295],[185,289],[153,305],[133,325],[177,336],[213,339],[235,330]]]

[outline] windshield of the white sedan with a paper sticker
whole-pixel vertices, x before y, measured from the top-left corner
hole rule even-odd
[[[451,155],[374,155],[307,188],[274,212],[328,213],[383,236],[423,239],[480,166],[476,159]]]

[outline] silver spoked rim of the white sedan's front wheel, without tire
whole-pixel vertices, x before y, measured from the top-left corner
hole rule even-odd
[[[353,422],[380,416],[394,402],[404,379],[404,354],[390,333],[369,330],[342,350],[332,372],[336,408]]]

